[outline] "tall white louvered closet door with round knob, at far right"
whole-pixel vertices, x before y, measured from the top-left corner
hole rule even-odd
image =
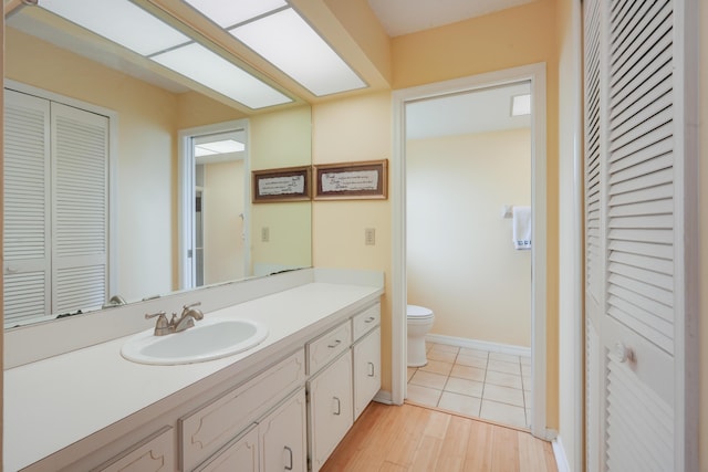
[[[584,1],[589,471],[677,470],[674,1]]]

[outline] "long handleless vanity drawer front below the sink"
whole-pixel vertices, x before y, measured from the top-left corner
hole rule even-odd
[[[304,384],[304,352],[179,420],[183,470],[192,470]]]

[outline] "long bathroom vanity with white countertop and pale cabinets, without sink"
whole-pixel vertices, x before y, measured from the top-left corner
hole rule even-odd
[[[129,334],[7,369],[4,470],[319,471],[381,388],[383,275],[288,280],[205,310],[268,326],[236,355],[139,364]]]

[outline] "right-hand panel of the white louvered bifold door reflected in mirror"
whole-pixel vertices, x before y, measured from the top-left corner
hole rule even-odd
[[[100,306],[107,285],[105,116],[52,103],[54,312]]]

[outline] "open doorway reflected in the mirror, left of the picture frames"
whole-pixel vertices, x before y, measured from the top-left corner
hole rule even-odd
[[[248,122],[180,132],[181,290],[248,274]]]

